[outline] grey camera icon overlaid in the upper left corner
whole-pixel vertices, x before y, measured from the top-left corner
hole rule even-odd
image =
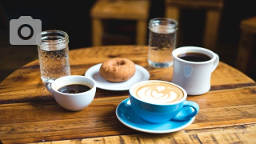
[[[30,16],[21,16],[10,20],[11,45],[39,45],[42,33],[42,22]]]

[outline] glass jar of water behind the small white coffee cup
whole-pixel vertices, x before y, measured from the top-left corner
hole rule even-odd
[[[38,37],[39,38],[39,37]],[[69,36],[62,30],[42,31],[38,58],[43,82],[70,75]]]

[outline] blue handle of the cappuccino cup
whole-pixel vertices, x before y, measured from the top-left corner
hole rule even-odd
[[[191,107],[194,109],[193,112],[191,112],[191,109],[187,109],[186,107]],[[188,112],[189,111],[189,112]],[[190,118],[193,118],[196,114],[198,114],[199,106],[196,102],[186,101],[184,102],[182,106],[182,110],[174,116],[171,120],[177,120],[177,121],[185,121]]]

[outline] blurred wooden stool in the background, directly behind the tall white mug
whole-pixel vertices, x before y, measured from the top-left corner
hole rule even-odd
[[[214,50],[218,38],[218,28],[222,15],[224,0],[165,0],[166,18],[173,18],[180,22],[181,10],[206,10],[206,23],[203,34],[202,46]],[[195,16],[196,17],[196,16]],[[178,37],[181,37],[178,30]],[[177,41],[180,41],[178,38]]]

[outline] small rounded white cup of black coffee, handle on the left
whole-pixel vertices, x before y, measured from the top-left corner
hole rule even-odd
[[[77,94],[67,94],[59,92],[62,86],[70,84],[83,84],[90,87],[90,90]],[[56,102],[66,110],[78,111],[89,106],[96,93],[96,83],[93,79],[80,75],[65,76],[55,81],[46,82],[46,89],[54,95]]]

